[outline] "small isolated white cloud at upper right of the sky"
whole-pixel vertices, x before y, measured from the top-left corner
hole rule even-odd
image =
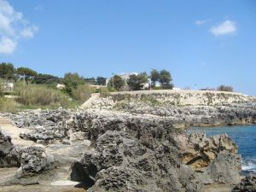
[[[212,26],[210,32],[215,36],[234,34],[236,33],[236,22],[232,20],[225,20],[218,26]]]

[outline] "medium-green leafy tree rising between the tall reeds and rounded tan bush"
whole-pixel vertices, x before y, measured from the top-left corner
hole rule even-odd
[[[66,85],[66,91],[70,96],[73,96],[73,90],[78,89],[79,84],[85,84],[84,78],[78,73],[66,73],[63,83]]]

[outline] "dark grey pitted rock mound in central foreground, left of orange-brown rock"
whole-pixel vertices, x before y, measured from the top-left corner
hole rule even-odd
[[[74,162],[71,179],[93,185],[89,191],[180,191],[179,166],[176,149],[167,143],[153,151],[124,131],[107,131],[95,150]],[[201,190],[202,184],[182,180],[187,191]]]

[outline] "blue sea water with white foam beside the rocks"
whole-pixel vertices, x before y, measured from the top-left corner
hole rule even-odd
[[[239,146],[243,172],[256,172],[256,125],[193,128],[191,132],[204,131],[208,136],[227,133]]]

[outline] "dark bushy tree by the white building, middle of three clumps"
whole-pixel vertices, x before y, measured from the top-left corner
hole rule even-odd
[[[131,74],[127,80],[130,90],[142,90],[143,85],[148,82],[147,73],[140,73],[138,75]]]

